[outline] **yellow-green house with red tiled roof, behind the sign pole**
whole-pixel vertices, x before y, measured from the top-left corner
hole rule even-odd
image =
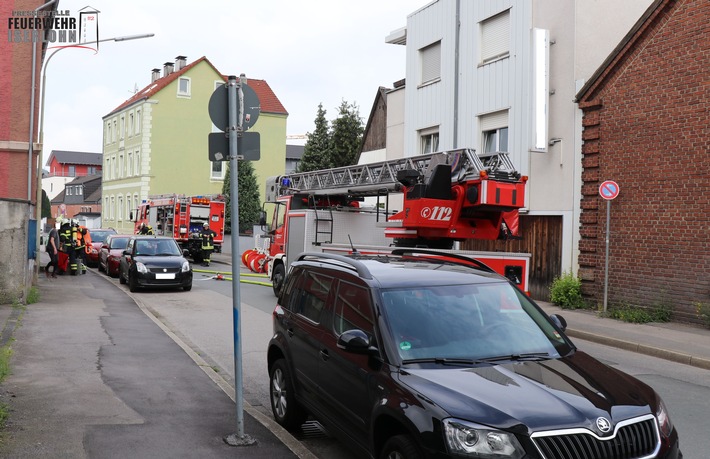
[[[226,82],[202,57],[153,69],[151,83],[103,117],[103,227],[132,233],[136,209],[150,196],[215,195],[222,192],[227,162],[211,162],[208,135],[218,132],[209,99]],[[267,177],[284,173],[288,112],[264,80],[248,79],[261,106],[250,129],[261,137],[254,162],[260,193]]]

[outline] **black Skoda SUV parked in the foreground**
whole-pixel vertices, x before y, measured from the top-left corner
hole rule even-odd
[[[301,254],[274,310],[271,407],[377,458],[682,458],[656,392],[449,253]]]

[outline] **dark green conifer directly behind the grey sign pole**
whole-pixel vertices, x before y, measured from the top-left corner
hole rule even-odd
[[[225,232],[232,231],[232,204],[231,204],[231,165],[227,163],[227,175],[222,184],[222,194],[225,197],[226,209],[224,212]],[[259,221],[259,211],[261,210],[261,200],[259,197],[259,184],[256,181],[256,172],[250,161],[239,161],[237,170],[237,180],[239,182],[237,193],[239,196],[239,232],[244,233],[251,230],[252,226]]]

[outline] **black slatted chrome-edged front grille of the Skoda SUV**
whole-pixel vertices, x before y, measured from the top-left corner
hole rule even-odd
[[[653,416],[620,423],[609,438],[599,438],[584,429],[533,434],[545,459],[643,459],[655,457],[660,447]]]

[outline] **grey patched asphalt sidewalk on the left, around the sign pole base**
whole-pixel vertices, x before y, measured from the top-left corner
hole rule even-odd
[[[0,457],[314,457],[246,402],[244,432],[256,444],[227,445],[233,391],[99,276],[41,272],[39,289],[24,312],[0,306],[2,335],[15,339],[0,386],[10,409]]]

